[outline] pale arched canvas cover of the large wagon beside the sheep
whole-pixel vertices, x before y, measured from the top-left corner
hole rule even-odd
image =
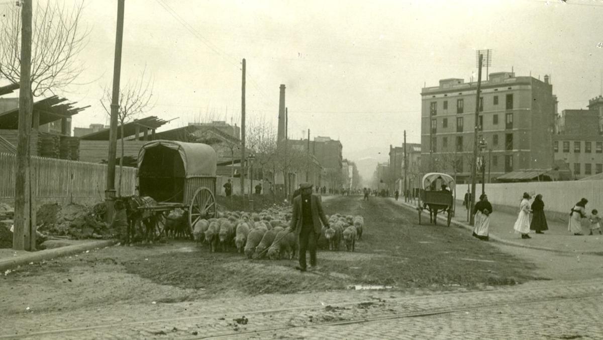
[[[195,176],[216,176],[218,156],[212,147],[202,143],[185,143],[166,140],[145,143],[138,152],[139,169],[144,160],[145,152],[159,146],[178,151],[184,164],[186,178]]]

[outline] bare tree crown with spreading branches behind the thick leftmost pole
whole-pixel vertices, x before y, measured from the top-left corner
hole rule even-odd
[[[18,3],[18,1],[17,1]],[[31,91],[34,97],[63,89],[84,70],[75,56],[86,47],[90,33],[81,27],[83,2],[66,7],[58,1],[34,9],[31,46]],[[21,77],[21,7],[4,6],[0,22],[0,77],[18,83]]]

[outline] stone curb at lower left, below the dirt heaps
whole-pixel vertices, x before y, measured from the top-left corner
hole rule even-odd
[[[49,260],[55,257],[71,255],[77,252],[83,252],[96,248],[104,248],[107,246],[115,245],[115,243],[117,243],[117,241],[115,240],[92,241],[82,243],[80,245],[64,246],[60,248],[32,252],[31,254],[23,254],[11,258],[0,258],[0,271],[13,269],[17,266],[28,265],[31,262],[40,262],[42,260]]]

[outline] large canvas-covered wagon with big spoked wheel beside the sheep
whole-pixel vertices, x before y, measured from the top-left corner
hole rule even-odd
[[[139,196],[151,197],[157,204],[138,209],[165,217],[180,208],[188,213],[191,228],[199,219],[216,217],[216,164],[216,152],[206,144],[145,143],[138,153]]]

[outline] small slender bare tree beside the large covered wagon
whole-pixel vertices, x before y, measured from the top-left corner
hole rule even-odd
[[[145,80],[145,71],[142,71],[139,79],[135,82],[125,84],[119,89],[119,109],[118,120],[121,127],[119,135],[121,136],[121,157],[119,157],[119,180],[118,196],[121,195],[121,178],[124,167],[124,124],[136,119],[141,114],[150,111],[155,106],[153,100],[153,82],[151,79]],[[112,91],[107,86],[101,98],[101,105],[108,115],[111,115]]]

